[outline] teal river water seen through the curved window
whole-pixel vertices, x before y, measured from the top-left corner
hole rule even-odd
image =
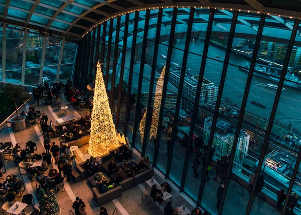
[[[184,49],[185,42],[179,41],[174,44],[175,47]],[[194,41],[190,44],[190,52],[194,53],[202,53],[204,47],[203,41]],[[167,56],[167,46],[160,45],[159,46],[159,55],[164,54]],[[220,61],[224,61],[225,51],[213,46],[209,47],[208,57],[215,58],[216,56],[220,57]],[[172,61],[182,65],[183,59],[183,51],[178,49],[173,49]],[[188,56],[187,68],[191,69],[191,73],[193,75],[199,75],[200,65],[201,65],[202,57],[190,53]],[[230,63],[245,66],[250,64],[250,60],[246,57],[243,57],[238,54],[231,54]],[[161,57],[158,57],[158,64],[165,62]],[[204,78],[213,82],[216,86],[219,86],[221,72],[223,68],[223,63],[207,59]],[[228,97],[232,100],[237,107],[241,106],[244,89],[246,85],[248,73],[240,70],[236,66],[228,66],[226,81],[223,90],[223,98]],[[262,77],[258,77],[253,75],[251,88],[248,96],[246,110],[254,115],[262,117],[264,119],[269,118],[272,105],[275,99],[276,90],[272,88],[268,88],[263,86],[263,84],[273,83],[277,85],[275,82],[271,82],[270,80],[264,79]],[[297,132],[297,130],[301,130],[301,122],[300,122],[300,110],[301,110],[301,94],[300,90],[284,86],[285,91],[281,92],[281,97],[279,100],[279,104],[277,107],[277,114],[275,117],[275,122],[278,125],[282,125],[283,127],[288,127],[289,122],[293,125],[293,130]],[[259,103],[262,103],[266,106],[265,109],[259,107],[255,104],[250,103],[250,101],[255,100]]]

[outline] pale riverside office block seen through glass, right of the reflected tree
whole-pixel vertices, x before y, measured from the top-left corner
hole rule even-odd
[[[181,71],[173,71],[170,72],[169,82],[175,86],[179,87],[180,85],[180,75]],[[189,74],[185,74],[184,82],[183,82],[183,92],[182,97],[186,98],[182,100],[183,107],[188,109],[189,111],[193,110],[193,102],[197,93],[198,87],[198,79],[199,76],[191,76]],[[218,92],[218,87],[214,85],[213,82],[203,78],[202,89],[200,93],[200,101],[199,105],[211,103],[216,100]]]

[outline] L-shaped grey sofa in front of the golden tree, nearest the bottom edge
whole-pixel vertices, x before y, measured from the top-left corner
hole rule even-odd
[[[100,190],[98,187],[94,187],[92,189],[93,192],[93,198],[96,201],[98,206],[103,205],[106,202],[109,202],[115,198],[118,198],[119,196],[122,195],[122,187],[117,186],[114,187],[104,193],[100,193]]]

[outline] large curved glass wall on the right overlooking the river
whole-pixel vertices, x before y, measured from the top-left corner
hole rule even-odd
[[[153,8],[97,29],[82,41],[90,54],[81,54],[75,76],[103,64],[116,130],[180,191],[211,214],[268,214],[282,210],[278,190],[301,195],[298,20]],[[63,53],[68,65],[70,53]],[[294,211],[301,213],[300,198]]]

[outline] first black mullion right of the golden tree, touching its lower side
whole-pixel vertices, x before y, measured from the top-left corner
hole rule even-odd
[[[120,106],[121,106],[121,96],[123,96],[122,95],[122,85],[123,85],[123,75],[124,75],[124,62],[125,62],[125,55],[126,55],[126,46],[127,46],[128,21],[129,21],[129,13],[125,14],[125,23],[124,23],[122,56],[121,56],[121,66],[120,66],[119,87],[118,87],[118,101],[117,101],[116,125],[115,125],[116,130],[118,130],[119,116],[120,116]]]

